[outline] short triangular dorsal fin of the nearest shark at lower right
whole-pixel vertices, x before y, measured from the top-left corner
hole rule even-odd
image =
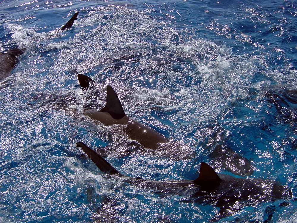
[[[216,186],[221,181],[221,178],[214,172],[214,169],[204,162],[201,162],[200,164],[199,177],[196,180],[193,180],[194,183],[201,186]]]

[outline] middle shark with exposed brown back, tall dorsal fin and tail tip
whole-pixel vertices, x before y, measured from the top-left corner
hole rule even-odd
[[[90,83],[93,82],[91,78],[82,74],[78,74],[78,81],[83,89],[89,88]],[[122,124],[123,131],[129,139],[139,142],[142,147],[160,156],[187,159],[193,154],[193,150],[187,145],[170,140],[151,128],[129,118],[125,114],[116,92],[110,85],[107,85],[105,107],[100,111],[96,109],[84,109],[84,115],[99,121],[105,126]]]

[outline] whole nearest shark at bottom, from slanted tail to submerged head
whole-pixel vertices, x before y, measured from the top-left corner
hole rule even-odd
[[[201,162],[199,176],[195,180],[153,181],[132,178],[121,174],[83,142],[77,142],[76,146],[81,147],[102,172],[117,175],[126,183],[152,190],[157,194],[189,196],[190,200],[196,203],[214,205],[220,209],[217,219],[231,216],[235,211],[255,203],[292,197],[292,191],[279,182],[217,174],[204,162]]]

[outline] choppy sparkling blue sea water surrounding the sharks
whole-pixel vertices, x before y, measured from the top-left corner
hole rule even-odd
[[[195,149],[189,160],[110,153],[121,173],[194,179],[217,143],[251,160],[244,177],[293,191],[285,207],[255,201],[219,222],[296,222],[296,4],[0,0],[0,51],[26,49],[0,83],[0,222],[209,222],[218,212],[80,156],[75,142],[119,151],[127,139],[83,116],[91,99],[78,73],[111,84],[129,117]],[[76,11],[72,29],[57,32]]]

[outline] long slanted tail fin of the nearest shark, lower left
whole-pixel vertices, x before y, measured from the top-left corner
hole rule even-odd
[[[113,168],[105,159],[102,158],[98,153],[92,150],[90,147],[86,146],[83,142],[77,142],[76,147],[81,147],[83,151],[89,156],[89,158],[96,164],[96,166],[104,173],[108,174],[118,174],[119,173],[115,168]]]

